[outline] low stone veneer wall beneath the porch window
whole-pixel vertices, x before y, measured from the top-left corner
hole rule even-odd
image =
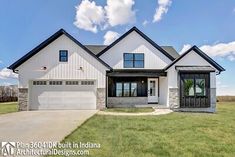
[[[108,97],[108,107],[135,107],[148,104],[147,97]]]

